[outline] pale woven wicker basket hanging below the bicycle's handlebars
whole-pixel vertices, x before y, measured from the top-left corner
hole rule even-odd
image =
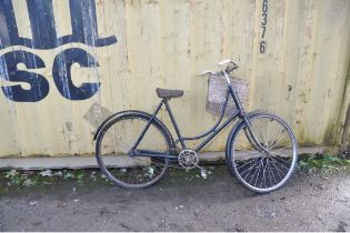
[[[241,103],[247,107],[248,98],[249,98],[249,82],[239,78],[230,77],[231,83],[236,92],[238,93],[238,98]],[[213,115],[220,115],[221,110],[223,108],[226,93],[227,93],[228,83],[226,78],[210,75],[208,80],[208,95],[207,95],[207,112]],[[229,115],[233,111],[236,111],[236,104],[231,95],[229,95],[228,105],[224,110],[224,115]]]

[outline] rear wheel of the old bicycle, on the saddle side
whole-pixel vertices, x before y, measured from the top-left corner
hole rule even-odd
[[[148,188],[158,182],[168,169],[168,159],[138,154],[128,155],[150,116],[126,113],[102,126],[97,138],[96,156],[101,171],[114,184],[122,188]],[[161,155],[169,154],[171,139],[166,130],[152,122],[137,150]]]

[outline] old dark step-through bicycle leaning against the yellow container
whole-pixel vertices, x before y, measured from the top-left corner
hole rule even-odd
[[[234,91],[229,74],[239,68],[233,60],[219,62],[222,70],[200,73],[223,77],[227,93],[221,114],[214,125],[197,136],[182,136],[169,105],[172,98],[183,95],[181,90],[157,89],[161,101],[152,114],[128,110],[108,118],[98,129],[93,140],[97,162],[103,174],[121,188],[148,188],[164,176],[169,166],[186,170],[199,169],[203,178],[207,172],[199,165],[198,152],[231,122],[227,140],[226,161],[229,171],[249,190],[258,193],[272,192],[281,188],[292,175],[298,160],[298,143],[279,116],[263,111],[246,112]],[[221,124],[229,98],[236,111]],[[170,116],[178,139],[174,141],[168,128],[157,118],[162,105]],[[188,149],[186,141],[203,141],[196,149]]]

